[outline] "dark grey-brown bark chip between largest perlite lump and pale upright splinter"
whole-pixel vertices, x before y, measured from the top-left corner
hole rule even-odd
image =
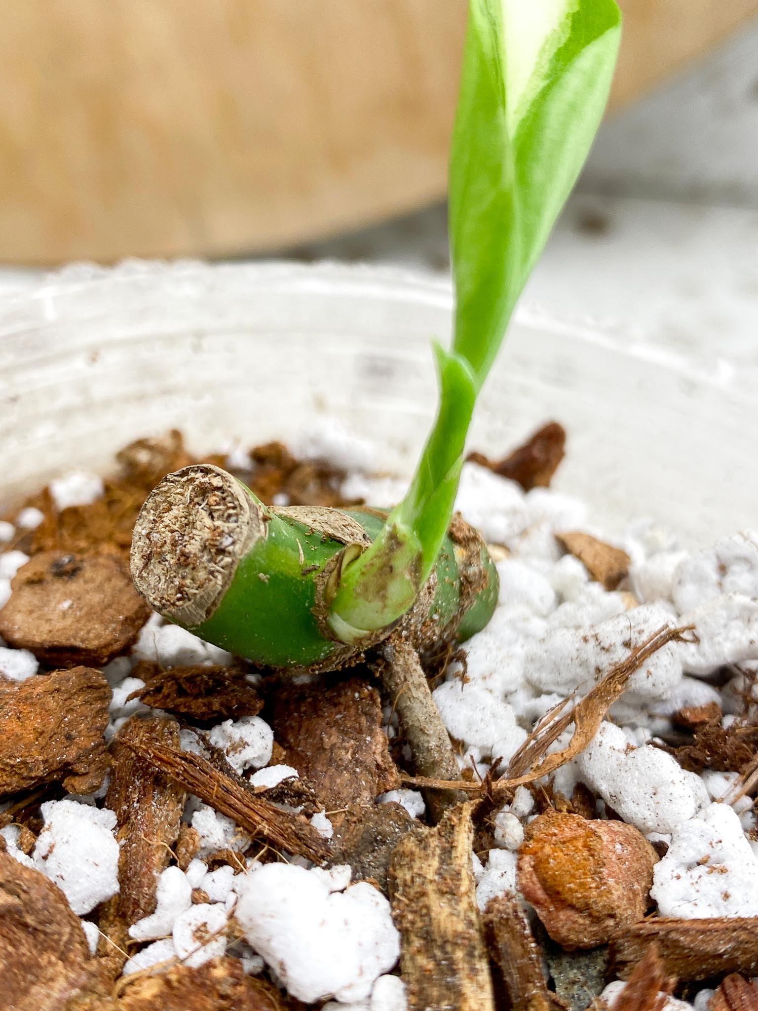
[[[392,852],[418,823],[400,804],[354,805],[334,823],[334,862],[349,863],[354,882],[372,882],[386,894]]]

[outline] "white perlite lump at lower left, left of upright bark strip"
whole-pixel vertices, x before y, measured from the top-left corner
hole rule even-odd
[[[40,806],[44,826],[32,851],[34,865],[55,882],[78,916],[118,892],[116,816],[75,801]]]

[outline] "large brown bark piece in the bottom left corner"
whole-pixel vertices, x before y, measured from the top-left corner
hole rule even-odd
[[[44,875],[0,852],[0,1004],[60,1011],[97,973],[87,937]]]

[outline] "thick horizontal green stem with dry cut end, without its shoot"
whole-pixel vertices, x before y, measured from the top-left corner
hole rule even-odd
[[[333,669],[394,628],[341,637],[328,622],[346,563],[385,522],[371,510],[270,509],[220,468],[191,466],[164,478],[143,508],[134,583],[166,618],[256,664]],[[496,601],[496,569],[459,520],[408,616],[411,638],[420,648],[467,638]]]

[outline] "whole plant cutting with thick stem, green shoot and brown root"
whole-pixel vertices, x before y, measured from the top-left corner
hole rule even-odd
[[[381,671],[420,774],[457,766],[418,658],[481,630],[497,601],[483,540],[453,517],[466,436],[597,129],[620,30],[612,0],[470,4],[450,158],[454,336],[434,345],[438,415],[403,499],[389,514],[270,508],[195,465],[155,488],[134,529],[134,584],[170,621],[265,667]]]

